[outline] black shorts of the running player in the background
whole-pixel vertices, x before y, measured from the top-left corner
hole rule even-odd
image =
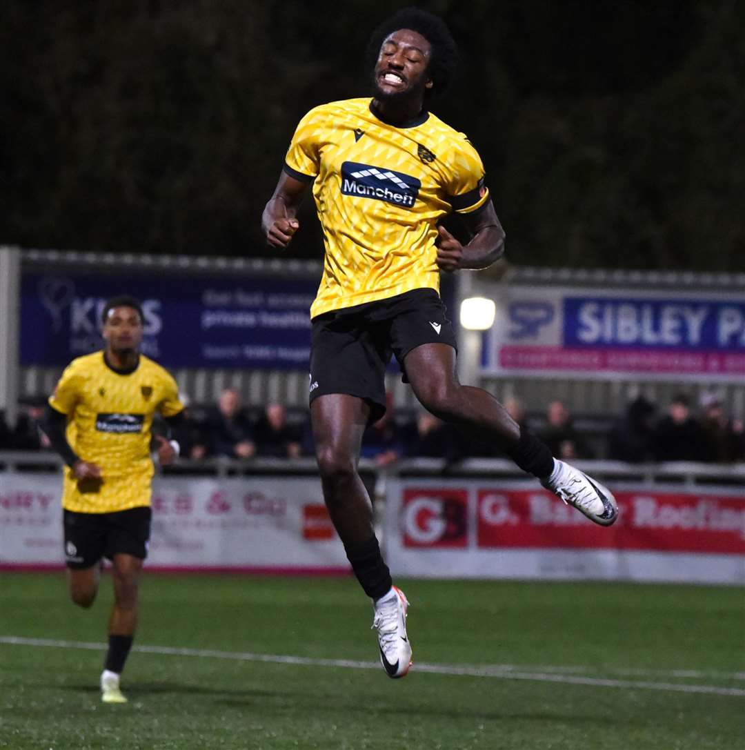
[[[115,513],[64,511],[64,561],[68,568],[82,570],[102,557],[127,554],[148,556],[151,508],[130,508]]]

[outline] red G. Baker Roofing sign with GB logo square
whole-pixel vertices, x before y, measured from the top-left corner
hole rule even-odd
[[[469,496],[475,496],[472,515]],[[745,554],[745,502],[741,497],[686,490],[617,492],[615,496],[619,518],[605,528],[540,488],[409,485],[402,493],[402,542],[409,548],[473,545],[480,549]],[[473,540],[470,544],[469,538]]]

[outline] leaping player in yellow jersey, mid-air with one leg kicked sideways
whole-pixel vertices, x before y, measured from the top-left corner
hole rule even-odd
[[[381,662],[402,677],[411,665],[408,601],[381,556],[357,469],[365,426],[385,410],[391,353],[432,414],[493,441],[595,523],[610,525],[618,511],[609,490],[553,458],[489,393],[456,377],[440,272],[490,266],[504,253],[504,231],[477,151],[429,111],[453,74],[450,31],[430,13],[406,8],[376,29],[369,50],[373,97],[323,104],[302,118],[262,229],[269,245],[286,248],[313,185],[325,242],[310,308],[316,458],[331,519],[373,600]],[[450,211],[468,229],[466,245],[438,226]]]

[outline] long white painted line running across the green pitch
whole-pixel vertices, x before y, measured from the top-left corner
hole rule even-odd
[[[0,636],[0,643],[9,646],[47,646],[61,649],[88,649],[103,651],[103,643],[85,643],[76,640],[51,640],[47,638],[25,638],[15,635]],[[196,656],[200,658],[223,658],[231,661],[263,661],[271,664],[298,664],[305,667],[346,667],[347,669],[380,669],[377,661],[355,661],[352,659],[310,658],[307,656],[289,656],[274,654],[255,654],[250,652],[214,651],[211,649],[184,649],[172,646],[133,646],[133,651],[172,656]],[[445,674],[452,676],[492,677],[494,679],[522,679],[528,682],[558,682],[564,685],[591,685],[600,688],[622,688],[660,690],[680,693],[708,695],[727,695],[745,697],[745,688],[721,688],[717,685],[685,685],[675,682],[651,682],[649,680],[605,679],[600,677],[516,671],[514,664],[416,664],[417,672]],[[524,669],[525,667],[522,667]],[[545,667],[541,667],[545,669]],[[556,667],[560,669],[561,667]],[[574,670],[575,667],[567,667]],[[679,671],[679,670],[676,670]],[[684,672],[691,676],[691,672]],[[740,673],[733,673],[732,676]]]

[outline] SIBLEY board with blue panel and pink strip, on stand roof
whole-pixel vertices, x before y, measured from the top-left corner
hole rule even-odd
[[[500,375],[739,382],[745,296],[688,290],[513,287],[494,290],[483,370]]]

